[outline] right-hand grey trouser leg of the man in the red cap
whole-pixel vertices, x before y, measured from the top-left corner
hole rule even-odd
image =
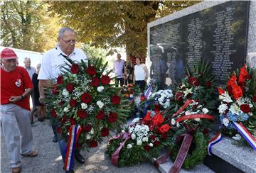
[[[33,135],[29,118],[30,112],[17,106],[16,119],[21,133],[21,154],[28,155],[32,152]]]

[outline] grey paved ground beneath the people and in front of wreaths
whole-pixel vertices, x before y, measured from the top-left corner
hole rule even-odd
[[[36,118],[35,118],[36,121]],[[62,160],[58,148],[58,143],[52,143],[53,132],[49,125],[49,121],[43,123],[36,121],[33,127],[33,149],[38,151],[38,157],[28,158],[21,157],[23,173],[63,173]],[[85,164],[75,162],[75,173],[82,172],[159,172],[151,163],[144,163],[134,167],[118,168],[105,159],[105,151],[107,144],[102,143],[97,148],[90,150],[90,152],[81,152],[85,157]],[[1,173],[11,172],[9,157],[6,151],[6,143],[4,135],[1,132]]]

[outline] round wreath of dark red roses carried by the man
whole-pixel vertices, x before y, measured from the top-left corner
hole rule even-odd
[[[119,96],[120,89],[110,84],[110,72],[105,72],[107,63],[97,59],[88,63],[66,63],[61,68],[47,99],[50,115],[58,121],[57,132],[68,138],[70,125],[80,125],[82,131],[77,147],[97,147],[110,130],[117,130],[129,116],[127,99]]]

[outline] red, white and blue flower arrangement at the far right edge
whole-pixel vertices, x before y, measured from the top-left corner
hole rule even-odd
[[[252,134],[252,139],[256,137],[255,72],[255,69],[250,69],[247,65],[244,65],[230,76],[225,87],[226,90],[221,87],[218,88],[221,101],[218,111],[222,128],[231,135],[233,135],[234,130],[238,130],[248,143],[250,143],[250,140],[244,136],[247,133],[246,130],[248,130],[247,134]],[[246,130],[241,130],[243,127]],[[236,135],[234,139],[240,140],[243,138]]]

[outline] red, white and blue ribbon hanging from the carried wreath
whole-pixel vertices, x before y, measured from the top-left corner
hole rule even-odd
[[[65,149],[65,162],[64,169],[66,171],[73,170],[74,167],[74,156],[75,156],[75,144],[78,142],[82,128],[80,125],[70,125],[68,146]]]

